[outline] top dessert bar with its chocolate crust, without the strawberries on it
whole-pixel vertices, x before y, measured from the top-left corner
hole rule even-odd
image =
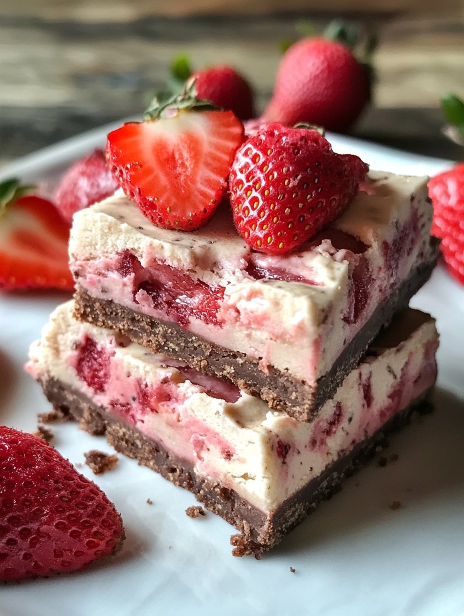
[[[295,253],[256,253],[224,204],[203,229],[150,224],[118,191],[74,218],[76,316],[309,421],[436,262],[426,178],[371,172]]]

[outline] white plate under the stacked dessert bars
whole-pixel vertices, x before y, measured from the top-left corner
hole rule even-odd
[[[2,176],[52,184],[71,160],[104,144],[108,127],[27,156]],[[331,136],[335,150],[359,153],[373,168],[434,174],[449,161]],[[65,296],[0,297],[0,420],[33,430],[49,409],[23,373],[28,345]],[[126,525],[123,551],[91,569],[0,587],[2,616],[459,616],[464,614],[464,291],[437,269],[413,305],[438,318],[437,410],[395,437],[396,463],[375,461],[261,561],[230,556],[234,529],[132,460],[101,477],[82,472],[116,503]],[[73,463],[103,438],[75,424],[53,428]],[[147,498],[153,505],[147,505]],[[400,501],[402,508],[389,505]],[[296,572],[291,573],[290,567]]]

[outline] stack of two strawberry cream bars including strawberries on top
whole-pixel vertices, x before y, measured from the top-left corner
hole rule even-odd
[[[31,346],[28,370],[55,408],[235,525],[236,555],[259,557],[425,403],[438,334],[407,306],[437,246],[426,179],[365,176],[312,129],[271,124],[240,145],[230,112],[201,113],[126,124],[117,147],[110,134],[124,192],[75,215],[75,298]],[[197,192],[160,180],[161,158],[187,184],[198,161],[221,163],[195,150],[184,164],[190,150],[176,148],[192,131],[192,151],[235,139],[218,185],[202,169]],[[282,175],[257,180],[254,163]],[[213,215],[229,171],[234,219],[225,203]],[[202,191],[195,222],[184,196]]]

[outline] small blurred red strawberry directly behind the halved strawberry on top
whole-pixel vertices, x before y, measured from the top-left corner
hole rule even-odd
[[[253,92],[250,84],[233,67],[219,65],[195,71],[189,81],[195,79],[198,98],[210,100],[222,109],[234,111],[240,120],[254,117]]]

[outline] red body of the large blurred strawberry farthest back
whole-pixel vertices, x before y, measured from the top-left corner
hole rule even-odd
[[[283,56],[267,121],[293,126],[309,122],[344,132],[370,99],[370,76],[348,47],[324,38],[306,38]]]

